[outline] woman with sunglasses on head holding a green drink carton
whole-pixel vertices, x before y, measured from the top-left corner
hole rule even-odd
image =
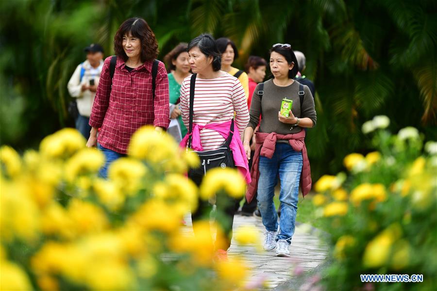
[[[257,190],[258,208],[266,227],[264,249],[273,250],[276,247],[276,256],[289,257],[300,181],[303,195],[311,189],[304,128],[314,127],[317,117],[309,88],[293,80],[298,71],[298,63],[289,44],[275,44],[270,49],[270,70],[273,79],[264,82],[262,89],[260,84],[255,88],[251,120],[244,130],[243,145],[250,159],[249,143],[261,114],[259,132],[255,134],[252,182],[246,197],[250,202]],[[303,94],[302,104],[300,94]],[[279,112],[284,98],[293,101],[288,117]],[[279,231],[278,215],[273,203],[278,175],[281,182]]]

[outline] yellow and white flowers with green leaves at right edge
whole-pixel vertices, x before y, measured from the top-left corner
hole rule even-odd
[[[393,135],[387,116],[363,124],[377,151],[344,158],[348,173],[315,184],[330,233],[326,290],[436,290],[437,143],[415,128]],[[362,283],[360,274],[423,275],[422,283]],[[319,286],[321,287],[321,286]]]

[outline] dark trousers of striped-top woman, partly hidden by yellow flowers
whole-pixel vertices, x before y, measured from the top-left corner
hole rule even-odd
[[[190,178],[197,186],[200,186],[200,184],[202,184],[203,176],[194,176]],[[199,204],[197,210],[191,212],[191,220],[193,221],[193,225],[196,221],[199,221],[201,219],[205,219],[206,221],[209,221],[209,215],[212,210],[212,205],[209,204],[208,201],[204,201],[199,198],[198,202]],[[216,250],[217,249],[227,250],[231,246],[232,227],[234,225],[236,203],[238,203],[238,200],[230,196],[227,195],[216,196],[216,207],[218,212],[218,216],[216,216],[216,221],[218,222],[218,225],[221,227],[225,235],[224,244],[223,245],[216,244],[215,246]],[[193,230],[194,230],[194,234],[196,234],[195,227],[193,227]]]

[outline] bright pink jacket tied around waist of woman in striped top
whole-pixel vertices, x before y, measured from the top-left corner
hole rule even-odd
[[[196,151],[203,151],[203,147],[200,139],[200,131],[202,129],[212,129],[220,133],[224,139],[227,139],[231,127],[231,121],[232,120],[223,123],[208,123],[205,125],[193,123],[192,133],[186,134],[185,137],[182,139],[181,143],[179,144],[179,146],[185,148],[188,143],[188,138],[190,137],[190,135],[192,135],[193,138],[192,138],[191,148]],[[229,147],[232,150],[235,166],[245,178],[246,183],[250,183],[251,174],[249,172],[249,164],[246,158],[246,151],[244,150],[243,143],[241,142],[241,138],[240,135],[238,134],[238,128],[236,125],[234,128],[234,135],[232,136],[231,144],[229,145]]]

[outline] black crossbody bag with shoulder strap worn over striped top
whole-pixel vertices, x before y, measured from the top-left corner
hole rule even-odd
[[[191,75],[190,80],[190,119],[189,119],[189,129],[188,133],[193,130],[193,107],[194,107],[194,88],[196,83],[197,74]],[[229,147],[231,144],[232,137],[234,136],[234,119],[231,121],[231,128],[229,136],[225,143],[221,145],[218,149],[205,150],[205,151],[194,151],[200,158],[200,166],[198,168],[193,168],[188,171],[188,177],[199,177],[206,175],[206,172],[212,168],[234,168],[234,157],[232,155],[232,150]],[[188,138],[187,148],[192,145],[192,135]]]

